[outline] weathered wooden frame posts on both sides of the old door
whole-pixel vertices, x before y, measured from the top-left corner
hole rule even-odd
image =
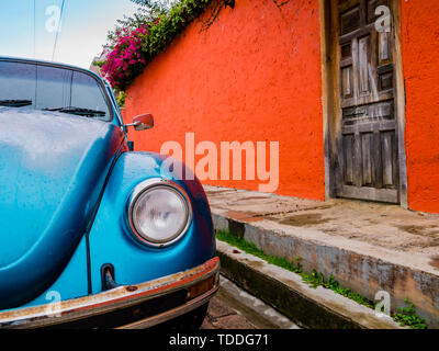
[[[324,126],[324,150],[325,150],[325,197],[336,197],[337,186],[341,181],[335,170],[337,149],[340,149],[341,121],[337,121],[337,109],[340,109],[339,77],[338,77],[338,49],[335,39],[338,38],[337,13],[331,11],[331,0],[318,0],[320,18],[320,63],[322,63],[322,106]],[[394,87],[395,87],[395,118],[397,133],[397,148],[399,162],[399,204],[408,208],[407,200],[407,166],[405,147],[405,84],[401,45],[401,9],[399,0],[392,0],[393,26],[395,45],[393,48],[394,57]],[[333,26],[331,23],[337,25]]]

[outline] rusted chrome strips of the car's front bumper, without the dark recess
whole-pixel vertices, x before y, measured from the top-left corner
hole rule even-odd
[[[133,329],[151,327],[181,316],[209,302],[218,288],[218,274],[219,259],[216,257],[191,270],[146,283],[117,286],[95,295],[64,301],[57,305],[47,304],[2,312],[0,313],[0,329],[68,327],[71,322],[80,325],[81,321],[133,308],[147,302],[154,304],[157,298],[166,299],[166,296],[170,296],[172,293],[184,293],[184,302],[178,306],[117,326]],[[191,287],[196,286],[204,286],[206,290],[201,290],[200,294],[191,296]]]

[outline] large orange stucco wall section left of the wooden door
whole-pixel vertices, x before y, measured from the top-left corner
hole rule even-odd
[[[184,146],[185,133],[218,151],[221,141],[255,148],[267,141],[269,155],[269,143],[279,141],[275,192],[324,200],[319,45],[316,0],[281,9],[271,0],[239,0],[207,32],[194,22],[127,91],[125,116],[150,112],[156,122],[151,131],[131,132],[135,149],[159,151],[169,140]],[[218,180],[204,183],[250,190],[266,183],[244,174],[224,180],[218,166]]]

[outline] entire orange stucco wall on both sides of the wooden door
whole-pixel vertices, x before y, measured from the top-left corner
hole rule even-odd
[[[439,213],[437,13],[437,0],[401,0],[408,205],[432,213]],[[239,0],[207,32],[191,24],[127,91],[125,117],[150,112],[156,121],[151,131],[131,132],[135,148],[160,151],[173,140],[184,149],[185,133],[193,133],[195,146],[212,141],[218,152],[221,141],[251,141],[255,148],[267,141],[267,154],[269,143],[279,141],[275,192],[323,200],[319,41],[316,0],[281,9],[271,0]],[[217,167],[218,180],[204,183],[251,190],[263,183],[222,180]]]

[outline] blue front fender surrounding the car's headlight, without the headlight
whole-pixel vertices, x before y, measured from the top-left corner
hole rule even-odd
[[[93,294],[102,291],[101,268],[111,263],[117,284],[139,284],[194,268],[215,256],[215,238],[207,199],[196,180],[180,180],[164,172],[165,156],[125,152],[115,163],[89,234],[90,278]],[[176,161],[177,162],[177,161]],[[127,202],[134,188],[151,178],[171,180],[191,201],[193,217],[182,239],[153,248],[135,239],[127,222]]]

